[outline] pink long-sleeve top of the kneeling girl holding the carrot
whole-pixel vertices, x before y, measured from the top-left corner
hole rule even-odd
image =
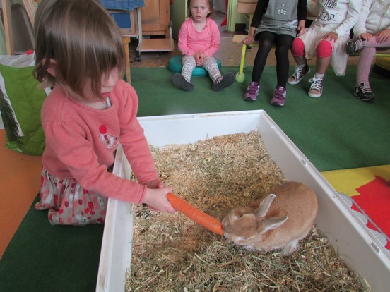
[[[119,80],[110,102],[110,108],[93,109],[54,88],[41,111],[46,136],[42,163],[57,178],[74,178],[86,190],[140,204],[147,189],[143,183],[158,173],[136,118],[138,97]],[[139,183],[107,172],[119,142]]]

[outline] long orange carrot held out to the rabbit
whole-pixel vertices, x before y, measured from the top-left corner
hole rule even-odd
[[[206,229],[223,236],[222,223],[218,219],[215,219],[201,210],[196,209],[196,207],[190,205],[188,202],[180,199],[172,193],[168,193],[167,199],[170,201],[175,210],[186,215],[189,219],[194,220]]]

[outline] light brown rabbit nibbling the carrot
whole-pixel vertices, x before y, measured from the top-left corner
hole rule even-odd
[[[314,190],[290,181],[273,188],[264,200],[232,209],[222,221],[223,233],[251,250],[283,248],[283,255],[290,255],[312,229],[317,212]]]

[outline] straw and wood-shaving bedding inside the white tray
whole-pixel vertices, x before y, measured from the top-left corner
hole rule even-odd
[[[151,150],[165,185],[218,219],[285,181],[257,132]],[[239,247],[179,212],[132,209],[126,291],[365,291],[315,226],[297,252],[283,257]]]

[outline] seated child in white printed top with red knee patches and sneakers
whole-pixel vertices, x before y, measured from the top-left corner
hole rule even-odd
[[[317,54],[316,72],[309,80],[312,83],[309,97],[321,97],[326,68],[331,63],[336,75],[345,75],[348,55],[345,54],[350,30],[358,21],[362,0],[308,0],[308,11],[317,15],[305,34],[294,39],[291,53],[297,66],[288,78],[288,83],[300,83],[310,72],[307,59]]]

